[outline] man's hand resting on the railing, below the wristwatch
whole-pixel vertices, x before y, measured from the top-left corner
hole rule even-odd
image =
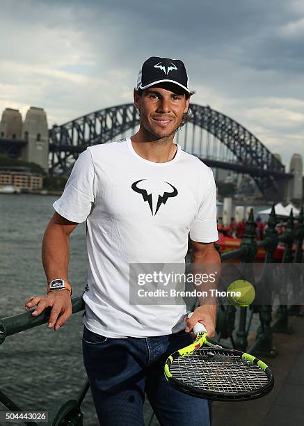
[[[24,309],[29,310],[37,306],[31,313],[37,317],[45,308],[51,306],[51,315],[49,316],[49,329],[54,327],[58,331],[67,319],[72,315],[72,301],[69,290],[54,290],[45,295],[30,296],[26,299]]]

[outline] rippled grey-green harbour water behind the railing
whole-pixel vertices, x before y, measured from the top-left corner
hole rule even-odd
[[[56,196],[0,194],[0,317],[24,312],[24,301],[45,294],[41,242]],[[258,207],[256,210],[261,210]],[[70,281],[80,295],[86,285],[86,227],[71,235]],[[47,411],[56,400],[74,399],[86,381],[81,337],[82,313],[58,332],[47,324],[6,338],[0,345],[0,389],[24,411]],[[0,410],[5,407],[0,403]],[[85,426],[97,426],[90,390],[82,404]],[[145,417],[151,409],[145,405]],[[158,423],[153,423],[157,425]]]

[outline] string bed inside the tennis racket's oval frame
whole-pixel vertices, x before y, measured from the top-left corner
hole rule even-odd
[[[257,390],[269,383],[267,374],[255,363],[212,349],[175,359],[170,372],[183,384],[221,393]]]

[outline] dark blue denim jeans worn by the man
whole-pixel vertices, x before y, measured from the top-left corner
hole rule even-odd
[[[168,384],[166,358],[191,343],[189,334],[115,339],[83,329],[83,363],[102,426],[144,426],[145,393],[161,426],[209,426],[206,400]]]

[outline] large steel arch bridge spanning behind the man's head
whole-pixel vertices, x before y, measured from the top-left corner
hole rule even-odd
[[[282,184],[291,175],[285,166],[245,127],[210,107],[190,104],[188,123],[177,132],[177,142],[208,166],[246,173],[267,198],[280,200]],[[65,171],[89,145],[106,143],[136,129],[139,114],[134,104],[101,109],[49,130],[51,173]],[[198,130],[198,131],[197,131]],[[182,139],[184,136],[184,141]]]

